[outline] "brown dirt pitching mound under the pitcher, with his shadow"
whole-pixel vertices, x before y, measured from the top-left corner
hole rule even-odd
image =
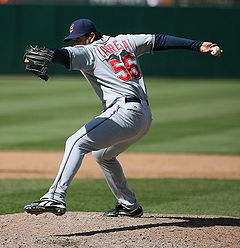
[[[240,219],[232,217],[68,212],[0,219],[0,247],[240,247]]]

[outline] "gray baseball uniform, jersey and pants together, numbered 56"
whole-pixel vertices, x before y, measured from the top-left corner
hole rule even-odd
[[[151,53],[153,43],[153,35],[118,35],[103,36],[85,46],[66,47],[70,69],[81,70],[105,111],[67,139],[59,172],[42,198],[64,202],[85,154],[92,152],[117,201],[129,209],[139,206],[116,157],[143,137],[151,125],[151,110],[137,57]],[[137,101],[128,102],[126,98]]]

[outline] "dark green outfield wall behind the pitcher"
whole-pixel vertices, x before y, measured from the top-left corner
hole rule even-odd
[[[105,7],[82,5],[0,5],[0,73],[25,73],[22,57],[27,45],[62,47],[69,25],[90,18],[102,33],[165,33],[216,41],[223,56],[193,51],[162,51],[141,58],[145,75],[240,77],[240,9]],[[50,73],[68,73],[52,65]]]

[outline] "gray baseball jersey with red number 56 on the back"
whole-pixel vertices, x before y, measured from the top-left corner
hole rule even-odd
[[[151,53],[153,44],[154,35],[118,35],[66,49],[71,56],[70,69],[81,70],[103,106],[108,107],[123,96],[147,100],[137,57]]]

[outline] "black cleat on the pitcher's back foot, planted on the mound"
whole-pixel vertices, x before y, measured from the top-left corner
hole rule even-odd
[[[141,217],[143,215],[143,209],[141,206],[135,209],[127,209],[120,203],[116,204],[114,209],[111,209],[103,214],[106,217],[118,217],[118,216],[128,216],[128,217]]]

